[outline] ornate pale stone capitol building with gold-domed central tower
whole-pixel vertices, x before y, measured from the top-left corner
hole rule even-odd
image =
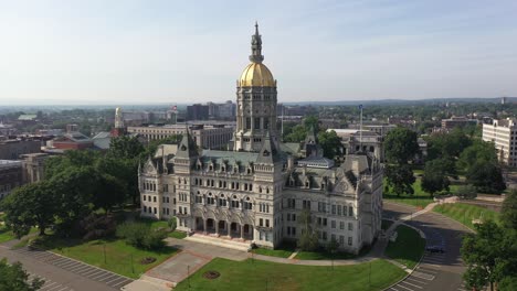
[[[296,241],[309,212],[319,242],[359,252],[381,229],[382,164],[371,152],[324,158],[315,132],[282,142],[277,82],[263,64],[255,24],[250,64],[236,82],[236,128],[230,150],[197,147],[189,131],[160,146],[138,170],[141,216],[177,217],[178,230],[221,244],[275,248]],[[376,152],[382,152],[376,149]]]

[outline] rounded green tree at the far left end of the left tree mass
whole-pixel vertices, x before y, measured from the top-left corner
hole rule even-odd
[[[20,238],[33,226],[38,226],[40,235],[54,223],[56,213],[55,192],[46,181],[39,181],[15,188],[2,202],[6,212],[6,223]]]

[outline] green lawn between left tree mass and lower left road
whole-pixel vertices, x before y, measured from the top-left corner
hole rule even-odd
[[[161,263],[178,251],[171,247],[165,247],[158,251],[137,249],[127,245],[122,239],[82,241],[77,239],[46,237],[43,245],[46,246],[46,249],[63,256],[130,278],[140,277],[141,273]],[[104,254],[106,254],[106,257]],[[146,257],[154,257],[156,261],[149,265],[141,265],[140,260]]]

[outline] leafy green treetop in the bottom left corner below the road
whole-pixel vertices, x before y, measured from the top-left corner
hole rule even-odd
[[[36,291],[45,281],[34,278],[29,281],[29,273],[23,270],[21,262],[9,265],[7,259],[0,260],[0,290],[2,291]]]

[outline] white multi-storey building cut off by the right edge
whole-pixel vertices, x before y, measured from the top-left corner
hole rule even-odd
[[[494,142],[502,163],[517,166],[517,121],[516,119],[494,120],[483,125],[483,140]]]

